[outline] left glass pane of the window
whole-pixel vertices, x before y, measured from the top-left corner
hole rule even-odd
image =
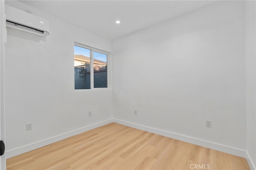
[[[90,89],[90,49],[74,45],[75,89]]]

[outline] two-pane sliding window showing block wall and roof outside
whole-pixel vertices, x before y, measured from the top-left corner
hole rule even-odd
[[[74,45],[75,89],[108,87],[108,53],[85,45]],[[93,87],[93,88],[92,88]]]

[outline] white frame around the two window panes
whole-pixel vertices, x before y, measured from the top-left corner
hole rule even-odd
[[[75,89],[75,90],[103,90],[103,89],[110,89],[110,85],[111,85],[111,73],[110,73],[110,52],[108,51],[104,51],[102,49],[98,49],[98,48],[94,48],[94,47],[90,47],[88,45],[84,45],[82,43],[78,43],[78,42],[74,42],[74,45],[78,46],[78,47],[82,47],[82,48],[86,48],[86,49],[90,49],[90,86],[91,88],[90,89]],[[74,49],[74,46],[73,46],[73,49]],[[94,88],[94,67],[93,67],[93,52],[98,52],[98,53],[103,53],[103,54],[106,54],[107,55],[107,86],[108,87],[100,87],[100,88]],[[74,54],[74,51],[73,51],[73,54]],[[73,59],[74,61],[74,59]]]

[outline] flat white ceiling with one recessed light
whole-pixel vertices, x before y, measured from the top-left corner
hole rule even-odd
[[[20,0],[110,40],[170,20],[214,1],[194,0]],[[115,21],[120,20],[121,24]]]

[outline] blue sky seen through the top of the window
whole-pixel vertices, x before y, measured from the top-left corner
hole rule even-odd
[[[83,47],[78,47],[78,46],[74,46],[74,55],[84,55],[86,57],[90,57],[90,49],[86,49]],[[102,53],[98,53],[96,51],[94,51],[93,53],[93,58],[94,59],[98,59],[100,61],[104,61],[107,62],[107,55],[106,54],[102,54]]]

